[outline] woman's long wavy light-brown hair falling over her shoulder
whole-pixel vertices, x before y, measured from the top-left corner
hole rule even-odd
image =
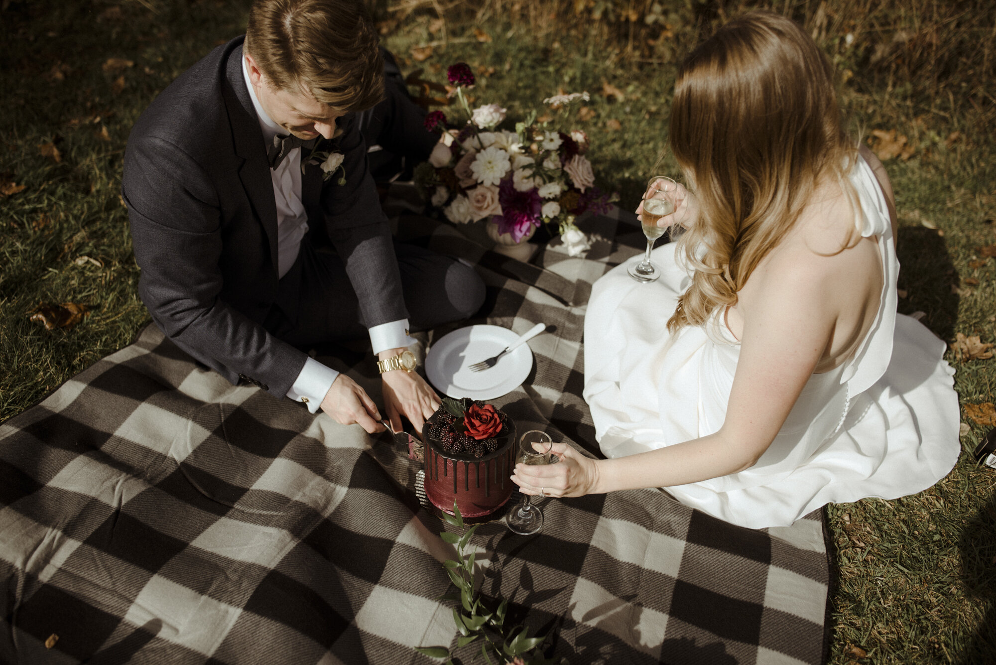
[[[842,126],[833,66],[771,12],[730,21],[681,64],[669,143],[699,201],[698,221],[678,240],[694,271],[672,333],[737,302],[818,183],[834,178],[854,195],[857,145]]]

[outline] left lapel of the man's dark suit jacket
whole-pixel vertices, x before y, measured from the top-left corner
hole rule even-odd
[[[270,163],[263,145],[263,130],[249,97],[242,75],[242,47],[236,47],[228,56],[225,85],[222,91],[225,108],[232,126],[235,153],[244,161],[239,168],[239,179],[246,196],[259,217],[270,241],[270,260],[274,274],[277,272],[277,202],[273,194]]]

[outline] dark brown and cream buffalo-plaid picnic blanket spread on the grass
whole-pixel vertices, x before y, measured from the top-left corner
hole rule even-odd
[[[581,222],[587,258],[523,264],[450,227],[404,232],[474,261],[488,323],[525,332],[520,431],[597,453],[581,396],[592,283],[638,251],[622,213]],[[626,221],[626,220],[623,220]],[[548,329],[550,330],[550,329]],[[445,331],[437,331],[438,335]],[[431,339],[430,339],[431,341]],[[372,390],[368,354],[330,359]],[[291,400],[233,386],[150,326],[0,425],[0,661],[431,663],[456,632],[418,464]],[[486,594],[572,663],[821,663],[823,519],[752,531],[658,490],[541,501],[544,530],[481,526]],[[470,662],[477,645],[454,649]]]

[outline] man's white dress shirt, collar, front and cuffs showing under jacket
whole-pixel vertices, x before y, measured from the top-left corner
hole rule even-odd
[[[256,98],[256,91],[249,80],[249,70],[245,57],[242,58],[242,76],[245,78],[249,97],[252,98],[259,126],[263,130],[263,140],[266,146],[273,144],[273,137],[286,134],[287,131],[274,122]],[[301,241],[308,233],[308,214],[301,202],[301,148],[296,147],[287,153],[280,166],[270,169],[273,180],[273,195],[277,202],[277,275],[283,277],[294,265],[301,250]],[[414,339],[408,336],[408,320],[380,324],[369,329],[373,352],[379,353],[388,348],[399,348],[411,344]],[[314,358],[307,358],[301,368],[294,385],[287,391],[287,396],[295,401],[304,402],[312,413],[322,405],[333,381],[339,372],[327,367]]]

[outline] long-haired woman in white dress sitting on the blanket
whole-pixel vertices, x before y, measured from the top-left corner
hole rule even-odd
[[[895,312],[891,186],[843,130],[813,40],[767,12],[720,28],[679,69],[669,145],[690,191],[658,225],[684,233],[654,251],[656,282],[623,264],[588,306],[585,399],[608,459],[558,444],[560,464],[516,467],[522,491],[662,487],[764,528],[943,478],[953,370]]]

